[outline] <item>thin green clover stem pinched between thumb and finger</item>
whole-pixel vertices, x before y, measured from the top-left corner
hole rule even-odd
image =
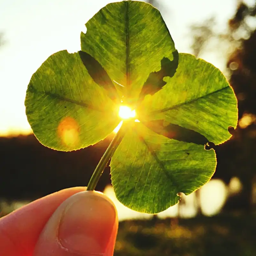
[[[113,140],[110,142],[110,144],[109,144],[108,148],[106,149],[104,155],[101,157],[100,162],[98,163],[94,172],[92,173],[92,177],[91,177],[91,179],[88,183],[87,190],[94,190],[95,189],[95,187],[96,187],[96,185],[97,185],[97,183],[100,179],[100,176],[101,176],[102,172],[104,171],[105,167],[108,164],[108,161],[113,156],[113,154],[116,151],[116,148],[121,143],[121,141],[124,137],[124,134],[125,134],[124,126],[126,126],[127,121],[124,121],[124,123],[122,124],[119,131],[116,133]]]

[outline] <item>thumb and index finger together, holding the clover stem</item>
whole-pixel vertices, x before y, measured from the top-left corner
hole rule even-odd
[[[116,208],[100,192],[68,188],[0,219],[1,256],[113,255]]]

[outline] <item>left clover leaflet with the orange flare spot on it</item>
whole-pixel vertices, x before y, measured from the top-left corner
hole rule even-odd
[[[37,139],[57,150],[84,148],[104,139],[120,119],[78,53],[50,56],[32,76],[25,100]]]

